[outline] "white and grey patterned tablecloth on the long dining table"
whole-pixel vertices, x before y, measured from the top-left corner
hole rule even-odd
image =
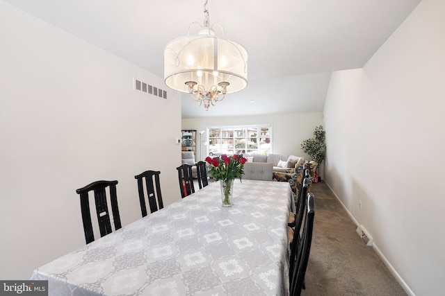
[[[135,198],[137,200],[137,198]],[[288,295],[289,183],[219,182],[34,270],[49,295]]]

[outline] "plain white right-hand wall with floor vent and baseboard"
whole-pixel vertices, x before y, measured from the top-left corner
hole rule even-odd
[[[444,14],[423,0],[364,69],[332,74],[324,110],[325,180],[409,295],[443,295]]]

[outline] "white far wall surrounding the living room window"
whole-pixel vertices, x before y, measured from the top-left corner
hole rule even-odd
[[[229,96],[225,98],[229,100]],[[222,102],[223,104],[225,102]],[[215,108],[218,108],[216,106]],[[272,124],[272,149],[273,153],[283,155],[304,156],[309,155],[301,150],[301,142],[305,139],[314,137],[314,128],[323,123],[323,113],[289,113],[289,114],[271,114],[261,116],[232,116],[232,117],[204,117],[195,119],[182,119],[182,129],[206,130],[211,125],[254,125],[254,124]],[[202,134],[202,141],[207,139],[207,134]],[[197,134],[197,142],[200,137]],[[197,158],[202,155],[204,160],[206,148],[197,145]],[[199,159],[197,159],[199,160]]]

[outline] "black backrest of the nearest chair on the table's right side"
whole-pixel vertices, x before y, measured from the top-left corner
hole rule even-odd
[[[305,225],[303,227],[301,243],[296,254],[296,264],[293,266],[293,277],[290,279],[291,295],[300,295],[305,286],[305,274],[307,263],[309,262],[309,253],[312,245],[312,233],[314,231],[314,195],[307,193],[307,207],[305,207]]]

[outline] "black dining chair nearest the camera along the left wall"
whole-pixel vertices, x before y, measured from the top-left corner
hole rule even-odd
[[[106,234],[112,232],[110,212],[108,210],[108,203],[106,198],[107,188],[109,188],[110,192],[111,210],[113,213],[115,230],[122,227],[122,225],[120,224],[116,184],[118,184],[118,181],[96,181],[88,184],[81,189],[76,190],[76,193],[78,193],[81,198],[83,231],[85,232],[85,239],[87,244],[95,241],[95,236],[92,231],[90,201],[88,200],[88,193],[90,191],[94,191],[95,195],[96,214],[97,221],[99,222],[100,236],[106,236]]]

